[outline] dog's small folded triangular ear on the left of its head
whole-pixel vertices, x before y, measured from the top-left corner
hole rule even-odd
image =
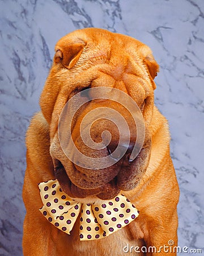
[[[78,61],[84,48],[83,43],[61,43],[56,46],[54,63],[61,62],[64,67],[71,69]]]

